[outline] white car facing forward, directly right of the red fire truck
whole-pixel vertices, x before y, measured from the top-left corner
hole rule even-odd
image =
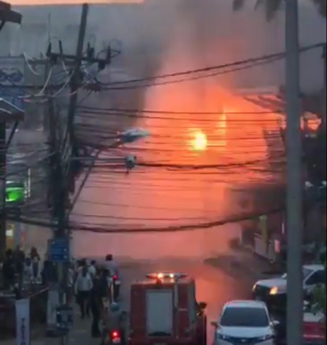
[[[270,319],[262,301],[235,300],[227,302],[215,326],[213,345],[274,345],[277,322]]]

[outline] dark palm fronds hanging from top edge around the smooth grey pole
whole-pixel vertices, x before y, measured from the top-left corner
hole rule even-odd
[[[233,0],[233,10],[238,11],[243,8],[248,0]],[[313,2],[321,16],[326,18],[326,0],[310,0]],[[266,18],[268,21],[274,18],[276,12],[281,9],[284,0],[256,0],[254,9],[265,6]]]

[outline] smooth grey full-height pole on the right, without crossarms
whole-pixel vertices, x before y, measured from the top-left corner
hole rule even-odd
[[[302,343],[302,193],[297,0],[286,5],[287,344]]]

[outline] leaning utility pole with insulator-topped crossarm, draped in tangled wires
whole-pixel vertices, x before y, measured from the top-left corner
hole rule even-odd
[[[68,107],[68,117],[67,117],[67,127],[65,133],[61,133],[60,125],[56,124],[55,117],[58,117],[59,114],[54,114],[50,111],[50,118],[52,123],[51,138],[52,138],[52,152],[53,152],[53,181],[52,183],[56,186],[53,197],[54,197],[54,217],[58,221],[57,229],[54,233],[53,243],[64,243],[67,246],[68,257],[67,260],[61,260],[58,262],[58,277],[60,283],[60,293],[59,300],[60,306],[62,308],[69,308],[67,306],[67,273],[69,265],[69,245],[70,233],[68,231],[69,224],[69,211],[70,208],[67,207],[67,200],[69,196],[69,183],[74,183],[72,173],[72,157],[77,157],[75,147],[75,138],[74,138],[74,116],[76,111],[77,99],[78,99],[78,90],[82,86],[82,71],[81,65],[85,61],[88,64],[98,63],[99,70],[103,69],[107,64],[110,63],[111,50],[108,47],[107,56],[105,59],[95,57],[94,48],[87,47],[87,54],[84,56],[83,47],[84,47],[84,38],[86,33],[87,26],[87,15],[88,15],[88,5],[83,4],[82,14],[80,21],[80,30],[78,35],[78,42],[76,48],[76,55],[64,54],[62,51],[61,41],[59,41],[59,53],[52,52],[52,46],[49,44],[48,51],[46,56],[48,59],[56,64],[58,61],[64,61],[68,63],[69,66],[74,66],[71,74],[71,98]],[[58,121],[57,121],[58,122]],[[73,160],[74,161],[74,160]],[[61,337],[61,344],[64,345],[68,340],[67,336]]]

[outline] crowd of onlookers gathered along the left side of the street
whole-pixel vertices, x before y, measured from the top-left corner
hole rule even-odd
[[[29,253],[22,251],[19,246],[14,250],[8,249],[2,271],[4,290],[15,292],[24,288],[25,284],[49,286],[57,282],[55,264],[48,255],[41,260],[35,247]],[[117,274],[118,266],[110,254],[102,265],[94,260],[88,262],[83,259],[77,265],[71,264],[68,269],[68,300],[75,295],[81,318],[92,318],[91,335],[101,338],[101,344],[105,343],[106,336],[112,330],[123,330],[120,306],[113,300],[111,289],[111,277]]]

